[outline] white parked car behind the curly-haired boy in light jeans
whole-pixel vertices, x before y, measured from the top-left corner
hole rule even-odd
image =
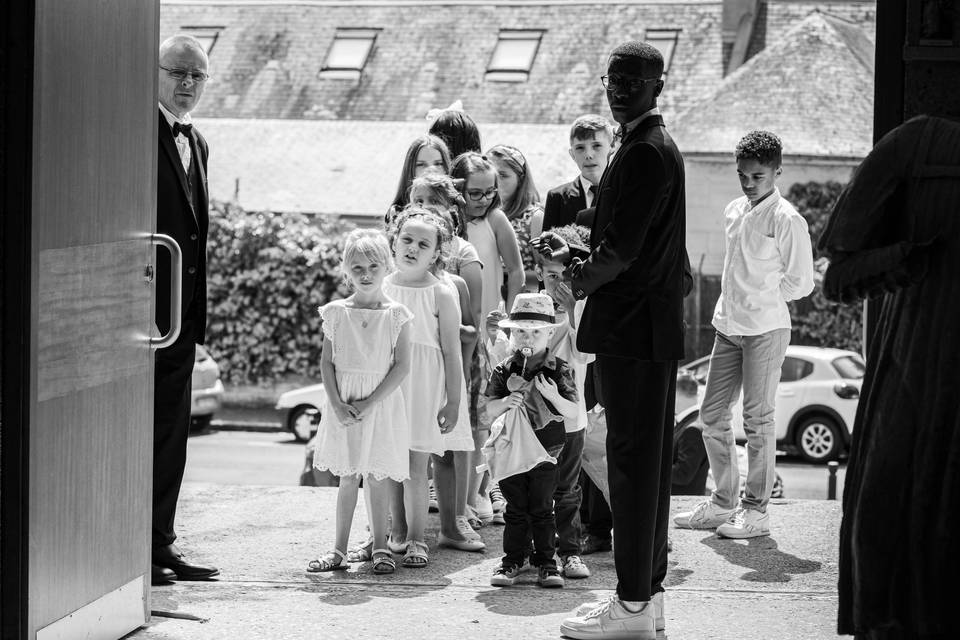
[[[709,367],[709,356],[680,367],[697,379],[700,400]],[[777,445],[819,464],[845,453],[865,371],[863,358],[854,351],[788,346],[777,385]],[[677,420],[698,417],[699,405],[683,411]],[[746,442],[742,394],[733,408],[733,429],[737,442]]]

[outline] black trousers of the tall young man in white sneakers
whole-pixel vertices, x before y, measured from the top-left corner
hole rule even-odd
[[[644,602],[663,590],[677,363],[598,355],[607,412],[607,464],[617,595]]]

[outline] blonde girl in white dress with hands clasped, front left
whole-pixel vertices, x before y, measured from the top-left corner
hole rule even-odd
[[[383,280],[391,266],[390,246],[382,232],[351,232],[340,270],[354,293],[320,307],[320,369],[327,409],[320,419],[313,464],[340,476],[340,489],[333,551],[312,560],[307,565],[311,573],[347,568],[345,550],[361,478],[374,540],[373,572],[396,569],[389,549],[383,547],[388,487],[410,475],[410,425],[400,384],[410,371],[413,314],[384,295]]]

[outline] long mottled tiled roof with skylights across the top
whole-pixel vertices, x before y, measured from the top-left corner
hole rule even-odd
[[[197,116],[418,120],[463,101],[475,120],[567,124],[606,112],[609,51],[679,29],[661,108],[692,106],[722,80],[722,0],[165,0],[160,36],[219,27]],[[338,28],[376,28],[359,81],[318,77]],[[501,29],[543,29],[526,82],[485,79]]]

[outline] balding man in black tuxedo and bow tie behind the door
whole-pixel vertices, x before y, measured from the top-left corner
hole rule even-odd
[[[173,521],[187,461],[190,379],[196,344],[207,322],[207,142],[190,124],[207,81],[207,54],[198,40],[173,36],[160,45],[157,233],[183,252],[181,330],[156,353],[153,404],[152,582],[206,580],[220,572],[187,562],[174,545]],[[170,327],[170,256],[157,256],[157,328]]]

